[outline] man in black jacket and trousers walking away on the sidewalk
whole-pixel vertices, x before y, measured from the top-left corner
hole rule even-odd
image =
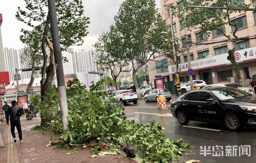
[[[15,135],[15,126],[17,128],[17,131],[19,133],[19,141],[22,143],[22,130],[20,126],[20,120],[19,117],[22,116],[22,111],[18,106],[16,106],[16,101],[12,101],[12,107],[8,109],[7,116],[6,116],[6,123],[9,126],[9,115],[10,115],[10,121],[11,121],[11,133],[12,137],[14,139],[14,143],[17,142],[16,135]]]

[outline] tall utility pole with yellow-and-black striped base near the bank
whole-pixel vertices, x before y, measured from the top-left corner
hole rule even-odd
[[[171,33],[172,33],[172,48],[173,48],[173,55],[174,55],[174,65],[175,65],[175,75],[176,75],[176,86],[177,86],[177,92],[178,95],[181,95],[181,84],[180,84],[180,78],[179,78],[179,72],[178,72],[178,64],[177,64],[177,55],[176,55],[176,47],[175,47],[175,40],[174,40],[174,32],[173,32],[173,22],[172,22],[172,18],[173,18],[173,14],[172,14],[172,6],[173,3],[169,3],[163,6],[168,6],[169,7],[169,13],[170,13],[170,21],[171,21]],[[161,32],[162,33],[162,32]],[[164,34],[164,33],[162,33]]]

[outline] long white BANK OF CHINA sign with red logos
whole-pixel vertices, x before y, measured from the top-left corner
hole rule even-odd
[[[208,69],[213,67],[231,65],[231,62],[227,60],[228,53],[207,57],[203,59],[197,59],[191,61],[191,68],[194,70]],[[256,47],[238,50],[234,54],[236,61],[247,62],[256,60]],[[169,74],[174,74],[175,66],[169,66]],[[186,72],[188,70],[187,62],[178,65],[178,72]]]

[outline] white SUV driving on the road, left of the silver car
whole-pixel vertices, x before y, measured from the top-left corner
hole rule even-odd
[[[138,101],[137,93],[131,89],[117,91],[114,94],[114,98],[116,99],[116,101],[120,101],[124,105],[126,105],[126,103],[131,103],[131,102],[133,102],[133,104],[137,104],[137,101]]]

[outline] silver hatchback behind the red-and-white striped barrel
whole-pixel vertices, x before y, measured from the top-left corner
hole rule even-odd
[[[144,96],[144,100],[145,102],[157,101],[157,97],[165,97],[167,100],[170,101],[172,95],[167,88],[152,89]]]

